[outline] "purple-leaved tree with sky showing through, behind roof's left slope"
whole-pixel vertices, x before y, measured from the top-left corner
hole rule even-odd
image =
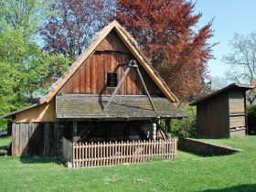
[[[92,35],[106,24],[114,7],[112,0],[60,0],[51,6],[58,11],[50,16],[41,30],[50,53],[60,53],[69,59],[87,48]]]

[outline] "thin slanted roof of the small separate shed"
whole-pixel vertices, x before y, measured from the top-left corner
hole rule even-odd
[[[198,99],[197,101],[192,101],[191,103],[189,103],[189,105],[191,105],[191,106],[197,105],[199,102],[206,101],[209,98],[215,97],[215,96],[219,95],[220,93],[222,93],[224,91],[229,91],[229,90],[230,91],[248,91],[248,90],[253,89],[254,87],[255,86],[253,86],[253,85],[232,83],[232,84],[229,84],[227,87],[224,87],[224,88],[220,89],[219,91],[212,92],[211,94]]]

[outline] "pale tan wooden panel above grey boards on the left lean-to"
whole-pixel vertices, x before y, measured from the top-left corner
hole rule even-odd
[[[49,103],[44,103],[26,111],[16,113],[16,123],[56,121],[55,101],[50,101]]]

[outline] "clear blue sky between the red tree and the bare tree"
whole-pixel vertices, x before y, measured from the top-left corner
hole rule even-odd
[[[213,48],[216,59],[208,61],[209,75],[223,77],[229,65],[221,61],[223,55],[229,54],[229,40],[234,33],[246,35],[256,30],[256,0],[192,0],[196,3],[195,14],[202,13],[197,26],[203,27],[211,19],[214,37],[208,43],[218,43]]]

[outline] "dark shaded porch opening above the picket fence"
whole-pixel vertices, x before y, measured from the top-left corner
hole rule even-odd
[[[169,132],[169,122],[166,128],[152,121],[69,121],[61,122],[63,136],[75,143],[127,142],[165,139]]]

